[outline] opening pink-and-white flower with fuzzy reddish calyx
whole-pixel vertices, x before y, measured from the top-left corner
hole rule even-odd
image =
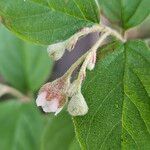
[[[41,106],[44,112],[55,112],[57,115],[67,102],[67,86],[67,82],[62,78],[45,84],[36,99],[37,106]]]

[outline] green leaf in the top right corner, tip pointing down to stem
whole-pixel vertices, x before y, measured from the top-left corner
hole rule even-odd
[[[98,0],[101,11],[111,22],[128,29],[150,14],[149,0]]]

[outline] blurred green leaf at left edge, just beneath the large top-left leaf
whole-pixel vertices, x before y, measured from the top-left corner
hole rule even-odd
[[[48,78],[51,68],[46,48],[25,43],[0,27],[0,74],[13,87],[34,92]]]

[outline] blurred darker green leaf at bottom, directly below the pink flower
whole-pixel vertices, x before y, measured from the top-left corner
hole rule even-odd
[[[50,120],[45,134],[42,138],[43,150],[70,150],[70,144],[74,140],[74,129],[71,122],[71,117],[62,113]]]

